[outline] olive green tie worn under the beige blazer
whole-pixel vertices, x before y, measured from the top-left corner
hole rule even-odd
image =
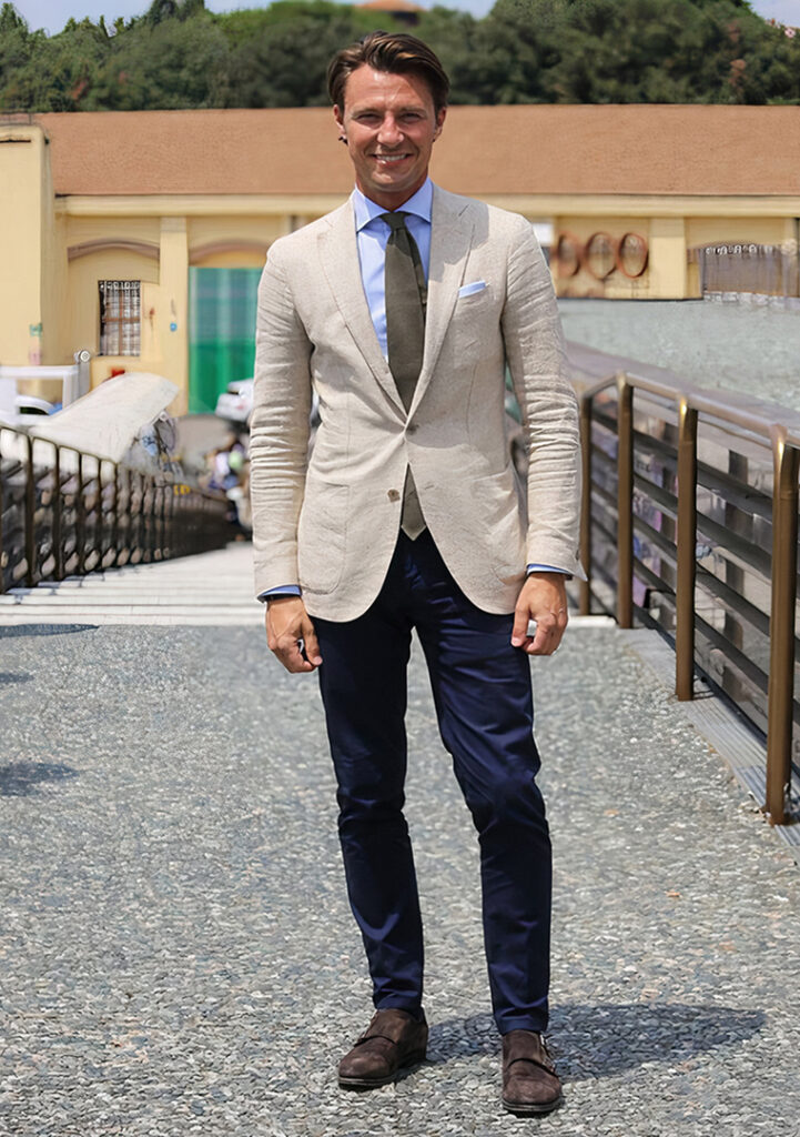
[[[411,406],[423,366],[427,291],[417,242],[406,229],[407,216],[405,213],[381,214],[392,230],[386,242],[384,269],[389,368],[406,410]],[[411,540],[425,529],[410,467],[406,473],[400,525]]]

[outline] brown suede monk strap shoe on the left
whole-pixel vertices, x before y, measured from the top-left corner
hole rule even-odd
[[[345,1089],[385,1086],[399,1070],[425,1060],[427,1023],[390,1007],[376,1011],[353,1048],[339,1063],[339,1085]]]

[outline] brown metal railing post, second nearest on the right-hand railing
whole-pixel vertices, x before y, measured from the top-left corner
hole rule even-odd
[[[678,404],[677,579],[675,582],[675,694],[694,697],[694,580],[698,531],[698,413]]]

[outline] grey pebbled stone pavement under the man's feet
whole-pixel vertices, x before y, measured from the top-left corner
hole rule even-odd
[[[20,625],[0,649],[2,1135],[800,1132],[798,870],[614,629],[533,664],[566,1090],[541,1120],[499,1107],[475,840],[418,656],[430,1056],[348,1094],[368,987],[315,680],[253,628]]]

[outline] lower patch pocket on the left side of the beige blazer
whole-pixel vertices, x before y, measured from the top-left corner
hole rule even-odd
[[[307,485],[298,523],[298,572],[309,592],[332,592],[344,571],[348,529],[347,485]]]

